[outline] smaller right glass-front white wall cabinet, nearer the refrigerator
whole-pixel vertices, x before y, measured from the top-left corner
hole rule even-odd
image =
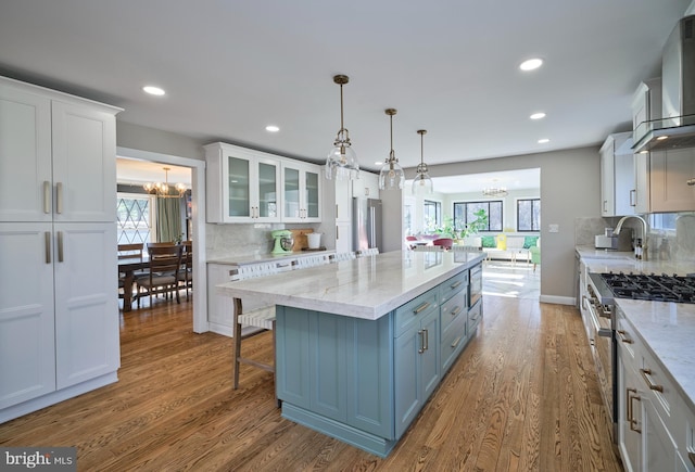
[[[282,163],[282,221],[320,221],[320,168],[299,162]]]

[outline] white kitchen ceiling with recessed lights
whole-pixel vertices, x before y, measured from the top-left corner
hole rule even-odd
[[[595,145],[631,127],[691,0],[2,0],[0,74],[118,119],[323,162],[345,126],[363,168]],[[544,66],[521,73],[540,56]],[[163,98],[144,85],[163,87]],[[532,122],[531,113],[547,117]],[[275,124],[280,132],[268,133]],[[551,139],[538,144],[539,138]]]

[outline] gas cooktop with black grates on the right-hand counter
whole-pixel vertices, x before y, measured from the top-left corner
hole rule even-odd
[[[616,298],[695,303],[695,277],[654,273],[602,273]]]

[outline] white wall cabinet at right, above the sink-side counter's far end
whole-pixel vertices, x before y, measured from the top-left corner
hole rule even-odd
[[[631,132],[610,135],[601,148],[601,215],[634,214]]]

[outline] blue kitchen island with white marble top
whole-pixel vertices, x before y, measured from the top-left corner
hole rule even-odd
[[[217,285],[276,305],[282,416],[386,457],[475,334],[484,255],[392,252]]]

